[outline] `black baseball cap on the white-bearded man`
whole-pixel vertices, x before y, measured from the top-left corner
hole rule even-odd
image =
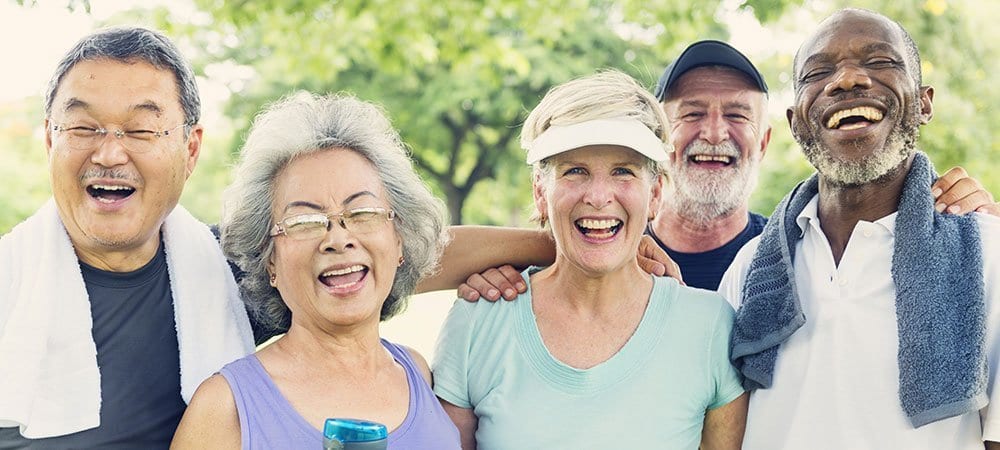
[[[663,75],[660,76],[660,80],[656,82],[656,91],[653,92],[653,95],[661,102],[666,100],[667,91],[680,79],[681,75],[701,66],[732,67],[745,73],[750,81],[760,88],[761,92],[767,94],[767,83],[764,82],[764,77],[760,75],[760,72],[746,56],[725,42],[705,40],[689,45],[681,53],[681,56],[667,66]]]

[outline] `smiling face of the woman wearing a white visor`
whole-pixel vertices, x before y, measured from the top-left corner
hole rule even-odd
[[[646,158],[616,145],[592,145],[549,158],[535,179],[535,207],[551,224],[556,261],[588,274],[635,264],[660,195]]]

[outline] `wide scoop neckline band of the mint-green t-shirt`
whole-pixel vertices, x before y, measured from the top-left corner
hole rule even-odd
[[[663,336],[664,316],[669,310],[676,288],[666,278],[653,277],[653,288],[642,319],[625,345],[610,358],[589,369],[572,367],[552,356],[545,342],[532,309],[530,274],[540,270],[529,267],[522,275],[528,280],[527,290],[514,302],[519,309],[516,315],[518,345],[535,373],[551,387],[570,394],[591,394],[611,388],[627,379],[646,362],[646,355]]]

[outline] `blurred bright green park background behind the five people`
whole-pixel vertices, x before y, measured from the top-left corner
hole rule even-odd
[[[792,56],[830,12],[899,21],[935,87],[920,147],[1000,196],[1000,2],[995,0],[4,0],[0,3],[0,234],[51,194],[42,95],[62,54],[91,30],[157,28],[193,62],[205,145],[181,203],[214,223],[229,168],[260,108],[296,90],[382,104],[453,223],[530,226],[520,124],[552,86],[618,68],[652,88],[690,42],[743,51],[771,89],[771,144],[752,209],[812,170],[791,138]],[[386,324],[428,358],[454,292],[416,296]]]

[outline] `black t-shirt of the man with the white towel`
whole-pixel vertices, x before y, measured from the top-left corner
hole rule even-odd
[[[134,272],[80,266],[94,320],[101,425],[46,439],[25,439],[16,427],[0,428],[0,449],[165,449],[185,404],[163,244]]]

